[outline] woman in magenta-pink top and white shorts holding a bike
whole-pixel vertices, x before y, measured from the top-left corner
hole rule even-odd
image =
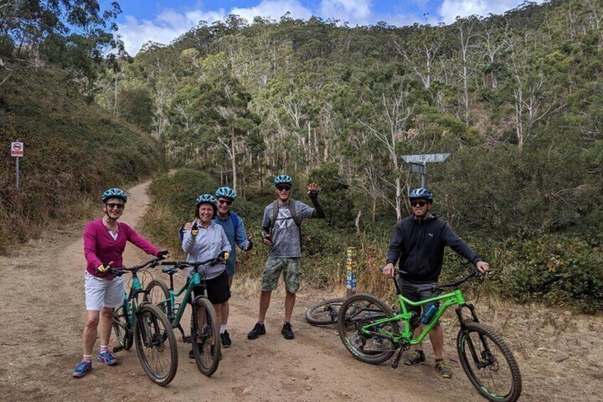
[[[85,277],[86,326],[84,327],[84,357],[72,371],[75,378],[81,378],[92,370],[92,348],[98,335],[100,352],[97,360],[107,366],[117,360],[107,349],[111,336],[112,315],[115,308],[124,301],[124,278],[107,273],[110,266],[122,267],[122,253],[126,242],[136,245],[148,254],[159,258],[169,257],[167,250],[159,250],[149,240],[139,236],[125,223],[117,222],[124,213],[128,196],[120,189],[108,189],[102,194],[100,219],[90,221],[84,230],[84,255],[87,261]]]

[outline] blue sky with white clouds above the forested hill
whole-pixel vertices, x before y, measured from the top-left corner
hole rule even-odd
[[[107,0],[108,1],[108,0]],[[543,0],[538,0],[542,2]],[[238,14],[248,21],[254,16],[278,21],[319,16],[347,22],[348,26],[412,23],[452,23],[457,16],[503,14],[524,0],[121,0],[117,18],[119,35],[131,55],[148,41],[169,44],[197,25]]]

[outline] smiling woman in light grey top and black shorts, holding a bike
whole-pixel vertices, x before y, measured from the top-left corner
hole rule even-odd
[[[225,253],[230,253],[230,242],[224,233],[222,226],[211,220],[217,211],[218,201],[211,194],[198,196],[195,203],[196,218],[191,223],[190,229],[185,228],[182,238],[182,250],[186,253],[188,263],[198,263],[211,260],[220,256],[220,262],[214,265],[206,265],[203,277],[206,280],[208,299],[212,303],[218,316],[218,327],[220,327],[222,303],[230,299],[230,287],[228,286],[228,274],[226,273]],[[188,225],[187,225],[188,226]],[[197,296],[197,290],[194,290]],[[203,322],[203,317],[198,317]],[[188,354],[192,357],[192,350]]]

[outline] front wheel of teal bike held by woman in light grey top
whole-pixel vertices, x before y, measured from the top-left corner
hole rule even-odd
[[[195,319],[199,309],[205,311],[208,324],[197,328]],[[201,341],[201,342],[197,342]],[[218,316],[210,301],[203,296],[195,297],[193,300],[193,312],[191,314],[191,347],[197,367],[201,373],[211,376],[218,370],[220,364],[222,341],[220,339],[220,328],[218,327]]]

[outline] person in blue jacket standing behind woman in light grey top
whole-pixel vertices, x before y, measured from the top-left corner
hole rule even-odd
[[[233,202],[237,198],[235,190],[228,186],[220,187],[215,191],[215,199],[217,200],[218,211],[215,214],[212,222],[216,223],[224,229],[228,242],[230,243],[230,258],[226,261],[226,273],[228,274],[228,287],[233,285],[233,278],[236,273],[236,259],[237,251],[235,245],[241,250],[251,250],[253,247],[252,236],[247,236],[245,231],[245,223],[243,223],[240,216],[238,216],[230,208],[233,206]],[[184,230],[189,228],[185,226]],[[222,339],[223,347],[230,347],[232,341],[230,340],[230,334],[228,334],[228,315],[230,313],[230,306],[228,300],[222,303],[220,307],[220,317],[222,318],[222,325],[220,326],[220,339]]]

